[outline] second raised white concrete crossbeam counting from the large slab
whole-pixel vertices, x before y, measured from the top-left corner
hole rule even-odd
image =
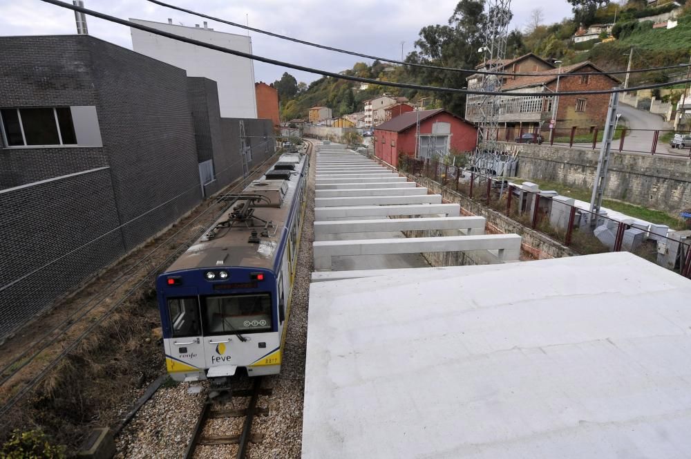
[[[376,218],[374,220],[315,221],[314,237],[326,234],[414,231],[427,229],[467,229],[468,234],[484,234],[484,217]]]

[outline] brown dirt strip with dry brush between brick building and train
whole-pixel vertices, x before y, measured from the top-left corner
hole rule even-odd
[[[265,162],[223,192],[242,189],[270,164],[271,160]],[[164,372],[155,274],[196,240],[224,207],[213,199],[201,203],[0,346],[0,409],[27,391],[0,420],[0,442],[12,429],[41,428],[56,443],[75,447],[90,427],[117,424],[146,385]],[[67,350],[66,358],[57,362]],[[50,366],[55,368],[49,370]],[[41,381],[28,391],[37,377]]]

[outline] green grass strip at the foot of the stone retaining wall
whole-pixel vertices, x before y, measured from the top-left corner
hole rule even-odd
[[[534,178],[515,178],[511,180],[518,182],[524,180],[527,182],[537,183],[540,185],[540,189],[553,189],[558,191],[562,196],[569,196],[569,198],[583,200],[585,202],[590,201],[592,193],[592,191],[589,189],[569,187],[563,183],[551,182],[549,180],[538,180]],[[616,210],[616,212],[621,212],[622,214],[627,214],[628,216],[632,216],[634,218],[641,218],[641,220],[657,223],[658,225],[668,225],[673,229],[685,229],[685,224],[681,218],[670,215],[661,210],[648,209],[647,207],[624,203],[621,200],[614,199],[603,199],[603,207]]]

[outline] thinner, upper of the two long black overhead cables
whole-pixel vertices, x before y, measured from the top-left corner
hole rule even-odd
[[[239,24],[237,22],[232,22],[232,21],[226,21],[225,19],[220,19],[218,17],[214,16],[209,16],[205,15],[204,13],[201,12],[196,12],[193,10],[187,10],[187,8],[181,8],[180,6],[175,6],[171,5],[170,3],[165,3],[160,0],[147,0],[150,1],[151,3],[155,3],[156,5],[159,6],[164,6],[165,8],[171,8],[171,10],[178,10],[182,12],[186,12],[189,15],[193,16],[198,16],[198,17],[203,17],[205,19],[211,19],[211,21],[216,21],[220,22],[223,24],[228,24],[229,26],[235,26],[239,27],[245,30],[250,30],[252,32],[257,32],[257,33],[263,33],[264,35],[269,35],[270,37],[276,37],[280,38],[283,40],[288,40],[288,41],[293,41],[294,43],[299,43],[307,46],[314,46],[314,48],[321,48],[324,50],[328,51],[334,51],[335,53],[343,53],[343,54],[348,54],[351,56],[357,56],[357,57],[363,57],[365,59],[372,59],[372,60],[379,60],[383,62],[389,62],[390,64],[400,64],[404,66],[409,66],[409,67],[417,67],[417,68],[432,68],[435,70],[443,70],[443,71],[451,71],[451,72],[460,72],[460,73],[477,73],[480,75],[505,75],[505,76],[518,76],[518,77],[546,77],[553,75],[551,73],[506,73],[506,72],[498,72],[498,71],[486,71],[486,70],[475,70],[475,69],[469,69],[469,68],[457,68],[457,67],[443,67],[443,66],[433,66],[430,64],[417,64],[415,62],[405,62],[404,60],[397,61],[396,59],[387,59],[386,57],[377,57],[377,56],[370,56],[364,53],[358,53],[357,51],[349,51],[349,50],[344,50],[341,48],[334,48],[332,46],[326,46],[322,45],[319,43],[313,43],[312,41],[305,41],[301,40],[299,38],[294,38],[294,37],[287,37],[286,35],[281,35],[278,33],[274,32],[269,32],[269,30],[262,30],[254,27],[249,27],[245,26],[244,24]],[[679,67],[687,67],[690,64],[679,64],[679,65],[674,65],[674,66],[664,66],[664,67],[652,67],[652,68],[637,68],[631,71],[607,71],[605,73],[608,73],[609,75],[623,75],[624,73],[643,73],[643,72],[652,72],[652,71],[660,71],[660,70],[666,70],[668,68],[679,68]],[[597,74],[598,72],[574,72],[570,73],[570,75],[594,75]]]

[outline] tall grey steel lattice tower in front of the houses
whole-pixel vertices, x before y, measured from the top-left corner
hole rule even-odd
[[[486,70],[502,72],[504,57],[507,53],[511,0],[489,0],[487,6],[488,27],[485,30],[484,45],[479,51],[483,54]],[[502,76],[482,75],[482,83],[479,86],[480,91],[500,91]],[[496,170],[493,165],[502,156],[502,147],[498,143],[501,96],[480,94],[468,95],[468,97],[471,97],[472,103],[477,106],[479,114],[477,147],[473,151],[472,165],[476,170]],[[499,171],[497,173],[499,174]]]

